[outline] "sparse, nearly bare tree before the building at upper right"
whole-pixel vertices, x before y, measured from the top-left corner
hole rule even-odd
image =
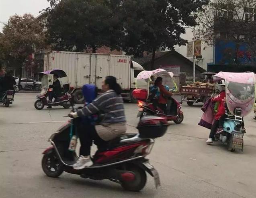
[[[241,45],[246,45],[248,56],[256,51],[256,0],[213,0],[198,20],[198,37],[208,45],[219,40],[235,42],[234,63],[238,64]]]

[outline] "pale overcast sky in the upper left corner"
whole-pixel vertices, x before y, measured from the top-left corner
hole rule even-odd
[[[48,6],[47,0],[0,0],[0,32],[4,26],[2,23],[7,22],[10,16],[30,13],[36,17]]]

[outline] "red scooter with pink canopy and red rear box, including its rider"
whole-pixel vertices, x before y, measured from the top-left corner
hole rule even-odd
[[[170,72],[171,73],[171,72]],[[139,113],[137,117],[147,115],[158,115],[180,124],[183,119],[183,112],[180,110],[180,103],[172,98],[170,91],[177,90],[176,84],[166,70],[157,69],[153,71],[142,71],[136,78],[136,88],[133,90],[133,98],[138,100]],[[155,82],[154,82],[154,79]],[[155,86],[152,86],[152,84]],[[166,90],[166,87],[173,87]],[[153,89],[151,89],[153,88]],[[167,105],[166,105],[167,104]]]

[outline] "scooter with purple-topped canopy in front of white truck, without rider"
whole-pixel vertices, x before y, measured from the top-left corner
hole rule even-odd
[[[59,76],[60,84],[63,87],[63,95],[55,98],[54,102],[49,102],[47,97],[49,96],[50,92],[53,91],[52,88],[49,88],[49,85],[51,85],[54,74]],[[70,89],[70,84],[66,73],[60,69],[53,69],[45,72],[39,72],[39,76],[42,78],[42,90],[35,101],[35,108],[37,110],[43,109],[44,106],[63,106],[66,109],[70,108],[71,94],[68,92]]]

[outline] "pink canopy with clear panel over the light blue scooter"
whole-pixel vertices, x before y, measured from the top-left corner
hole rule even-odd
[[[256,75],[253,72],[219,72],[213,80],[225,80],[226,101],[229,111],[234,114],[236,108],[242,109],[242,116],[248,115],[255,102]]]

